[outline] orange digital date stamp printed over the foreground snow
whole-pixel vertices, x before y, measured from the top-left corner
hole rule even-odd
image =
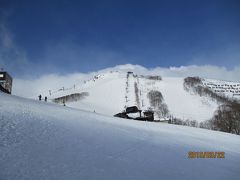
[[[195,152],[195,151],[189,151],[188,152],[188,158],[189,159],[197,159],[197,158],[208,158],[208,159],[224,159],[225,158],[225,152]]]

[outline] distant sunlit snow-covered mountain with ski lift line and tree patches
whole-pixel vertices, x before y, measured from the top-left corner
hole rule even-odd
[[[62,88],[42,94],[54,102],[108,116],[137,106],[143,111],[153,110],[157,120],[178,118],[202,122],[210,119],[222,103],[208,95],[186,90],[185,78],[140,72],[144,70],[131,65],[107,69],[71,87],[63,84]],[[240,83],[201,78],[200,85],[218,96],[240,99]]]

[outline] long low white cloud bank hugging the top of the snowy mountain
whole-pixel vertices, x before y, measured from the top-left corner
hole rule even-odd
[[[119,65],[115,67],[106,68],[98,72],[92,73],[73,73],[66,75],[48,74],[43,75],[36,79],[14,79],[13,94],[37,98],[41,93],[47,94],[49,90],[57,90],[61,87],[72,87],[74,84],[82,83],[84,80],[88,80],[96,74],[104,73],[107,71],[133,71],[136,74],[157,74],[164,77],[187,77],[187,76],[200,76],[203,78],[219,79],[227,81],[239,81],[240,80],[240,67],[235,67],[233,70],[227,70],[224,67],[218,66],[181,66],[162,68],[156,67],[147,69],[140,65]]]

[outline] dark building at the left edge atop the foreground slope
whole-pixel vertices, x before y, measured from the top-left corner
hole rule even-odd
[[[6,71],[0,71],[0,91],[12,93],[12,77]]]

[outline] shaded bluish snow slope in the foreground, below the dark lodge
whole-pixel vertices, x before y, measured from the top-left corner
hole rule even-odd
[[[239,179],[240,136],[0,93],[0,179]],[[222,151],[224,159],[188,159]]]

